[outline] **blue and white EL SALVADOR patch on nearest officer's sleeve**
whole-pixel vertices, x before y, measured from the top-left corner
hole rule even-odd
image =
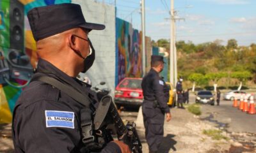
[[[74,112],[45,110],[46,128],[61,127],[74,129]]]

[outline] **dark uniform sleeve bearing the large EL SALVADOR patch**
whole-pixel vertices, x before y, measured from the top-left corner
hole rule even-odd
[[[19,114],[17,114],[19,112]],[[15,143],[22,152],[79,152],[76,113],[59,102],[40,101],[15,115]]]

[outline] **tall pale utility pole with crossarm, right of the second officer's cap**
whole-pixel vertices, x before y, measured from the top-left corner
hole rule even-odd
[[[171,0],[171,14],[170,14],[170,83],[174,84],[174,26],[175,26],[175,20],[174,20],[174,0]]]

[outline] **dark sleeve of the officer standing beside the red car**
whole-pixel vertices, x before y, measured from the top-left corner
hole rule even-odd
[[[161,110],[165,113],[170,112],[170,108],[167,105],[166,98],[164,97],[164,82],[159,78],[154,78],[153,80],[153,91],[156,96],[156,100],[159,103]]]

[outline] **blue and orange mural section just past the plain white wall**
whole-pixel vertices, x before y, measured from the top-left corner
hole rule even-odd
[[[142,77],[141,34],[116,18],[116,85],[125,77]]]

